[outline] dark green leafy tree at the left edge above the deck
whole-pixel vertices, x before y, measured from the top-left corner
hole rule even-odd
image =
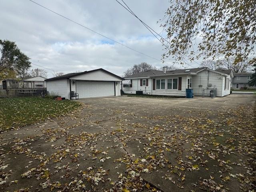
[[[15,42],[0,40],[0,72],[14,70],[18,75],[31,66],[30,58],[20,51]]]

